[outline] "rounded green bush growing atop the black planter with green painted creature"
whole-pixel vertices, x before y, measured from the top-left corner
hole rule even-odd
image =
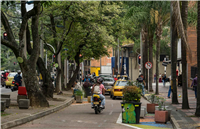
[[[141,89],[137,86],[126,86],[123,89],[123,100],[126,102],[140,102],[141,92]]]

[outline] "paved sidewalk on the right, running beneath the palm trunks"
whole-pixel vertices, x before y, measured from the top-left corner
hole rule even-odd
[[[155,91],[155,83],[153,83],[153,90]],[[182,87],[178,87],[178,102],[179,104],[171,104],[171,98],[167,97],[169,90],[169,83],[166,83],[165,87],[162,83],[159,83],[159,96],[166,99],[166,104],[172,109],[171,122],[176,129],[195,129],[200,126],[200,118],[195,117],[196,110],[196,98],[194,91],[188,89],[188,102],[190,109],[182,108]],[[171,93],[172,96],[172,93]]]

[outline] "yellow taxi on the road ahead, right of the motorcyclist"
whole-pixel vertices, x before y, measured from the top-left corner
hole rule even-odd
[[[117,97],[122,98],[123,92],[125,86],[127,86],[128,81],[127,80],[117,80],[114,84],[114,86],[111,88],[110,92],[110,98],[115,99]]]

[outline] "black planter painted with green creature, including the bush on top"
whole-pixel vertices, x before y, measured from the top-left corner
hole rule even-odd
[[[141,89],[131,82],[128,85],[123,89],[123,102],[121,102],[122,122],[138,124],[140,121]]]

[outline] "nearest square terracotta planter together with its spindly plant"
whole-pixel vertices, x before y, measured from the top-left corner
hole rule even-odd
[[[167,123],[168,121],[168,111],[165,108],[164,98],[159,99],[159,110],[155,111],[155,122],[156,123]]]

